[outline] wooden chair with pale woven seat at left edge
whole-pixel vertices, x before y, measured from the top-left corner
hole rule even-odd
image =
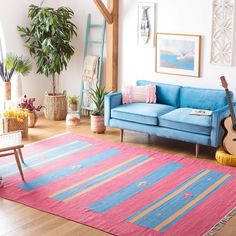
[[[24,163],[21,152],[21,148],[23,147],[21,131],[0,134],[0,157],[14,155],[21,179],[25,181],[21,168],[21,162]]]

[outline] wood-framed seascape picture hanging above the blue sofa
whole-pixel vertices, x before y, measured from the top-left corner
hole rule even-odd
[[[156,33],[156,72],[200,76],[200,35]]]

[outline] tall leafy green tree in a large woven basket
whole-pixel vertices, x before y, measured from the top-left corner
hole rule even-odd
[[[56,75],[67,69],[74,54],[71,41],[77,34],[71,21],[73,15],[74,12],[67,7],[53,9],[30,5],[30,27],[18,26],[25,46],[36,60],[37,73],[52,78],[52,92],[45,94],[44,98],[44,114],[50,120],[64,120],[67,114],[66,95],[57,92]]]

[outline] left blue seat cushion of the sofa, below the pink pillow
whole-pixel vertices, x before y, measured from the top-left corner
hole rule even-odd
[[[111,110],[111,118],[158,125],[158,117],[174,109],[174,107],[164,104],[131,103],[113,108]]]

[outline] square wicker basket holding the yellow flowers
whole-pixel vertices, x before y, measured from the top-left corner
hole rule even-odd
[[[17,121],[16,118],[5,118],[4,119],[4,132],[11,132],[20,130],[22,137],[28,136],[28,117],[25,117],[23,122]]]

